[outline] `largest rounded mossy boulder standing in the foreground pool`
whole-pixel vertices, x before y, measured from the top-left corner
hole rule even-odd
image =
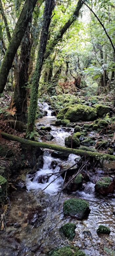
[[[89,213],[89,203],[83,199],[71,198],[63,203],[64,214],[76,217],[77,219],[86,218]]]

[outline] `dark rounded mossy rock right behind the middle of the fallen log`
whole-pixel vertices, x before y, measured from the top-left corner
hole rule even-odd
[[[69,135],[65,138],[65,146],[67,146],[68,148],[77,148],[80,146],[80,140],[76,135]]]

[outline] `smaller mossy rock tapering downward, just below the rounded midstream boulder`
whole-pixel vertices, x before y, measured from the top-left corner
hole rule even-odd
[[[72,241],[76,234],[75,229],[76,229],[76,225],[74,223],[66,223],[61,227],[60,230],[62,230],[65,237],[67,237],[70,241]]]

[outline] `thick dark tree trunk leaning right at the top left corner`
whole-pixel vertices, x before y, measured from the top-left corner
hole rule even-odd
[[[2,61],[1,68],[0,68],[0,93],[3,92],[4,87],[6,85],[8,74],[13,63],[13,59],[22,41],[22,38],[25,34],[26,28],[28,26],[28,22],[30,20],[30,15],[34,11],[36,2],[37,0],[25,1],[23,10],[15,26],[10,44],[5,53],[5,57]]]

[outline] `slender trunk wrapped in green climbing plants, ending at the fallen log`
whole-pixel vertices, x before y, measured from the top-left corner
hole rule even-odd
[[[34,131],[34,128],[35,128],[39,79],[41,75],[44,54],[45,54],[46,44],[48,40],[49,25],[51,22],[51,16],[52,16],[54,7],[55,7],[55,0],[46,0],[45,7],[44,7],[44,14],[43,14],[43,25],[42,25],[42,31],[41,31],[41,37],[40,37],[40,44],[39,44],[39,49],[37,54],[35,73],[33,76],[33,85],[31,89],[30,108],[29,108],[29,114],[28,114],[28,126],[27,126],[27,133],[26,133],[27,137],[31,132]]]

